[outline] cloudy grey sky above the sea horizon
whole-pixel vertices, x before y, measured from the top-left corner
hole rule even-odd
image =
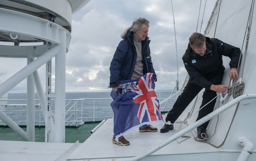
[[[200,7],[201,2],[201,7]],[[72,32],[66,54],[66,92],[110,92],[109,66],[121,39],[134,18],[150,21],[151,57],[157,74],[155,90],[173,89],[179,78],[182,87],[187,75],[182,56],[193,32],[203,34],[216,0],[91,0],[72,15]],[[205,11],[204,11],[205,5]],[[200,7],[199,21],[198,13]],[[204,14],[203,14],[204,11]],[[198,21],[198,23],[197,23]],[[202,25],[201,25],[202,22]],[[198,27],[197,27],[198,24]],[[197,30],[196,30],[197,29]],[[52,89],[54,89],[54,61]],[[0,58],[0,83],[27,64],[26,59]],[[6,69],[8,66],[11,68]],[[178,66],[178,76],[177,76]],[[38,69],[45,87],[45,65]],[[26,79],[9,93],[26,93]]]

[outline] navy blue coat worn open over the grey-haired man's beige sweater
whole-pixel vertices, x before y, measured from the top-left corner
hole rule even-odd
[[[125,39],[122,40],[117,50],[114,54],[114,57],[110,64],[110,83],[109,87],[118,87],[120,80],[129,80],[131,79],[136,59],[137,52],[133,42],[133,32],[128,31]],[[150,40],[146,37],[145,40],[141,41],[141,54],[143,59],[143,74],[153,73],[154,78],[156,79],[156,73],[153,68],[153,63],[150,56],[149,48]]]

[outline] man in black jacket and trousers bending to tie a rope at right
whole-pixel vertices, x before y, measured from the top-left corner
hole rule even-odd
[[[189,38],[188,49],[182,57],[189,74],[189,81],[183,93],[178,97],[166,116],[165,121],[170,121],[171,124],[164,124],[160,132],[164,133],[173,129],[173,123],[203,88],[205,88],[205,91],[202,96],[203,100],[200,108],[215,98],[217,95],[216,92],[224,93],[228,90],[228,86],[221,85],[225,70],[222,55],[228,56],[231,59],[228,74],[230,79],[235,79],[238,77],[237,66],[240,54],[241,50],[237,47],[215,38],[208,38],[202,34],[193,33]],[[213,112],[215,102],[216,98],[202,108],[196,120]],[[209,122],[207,121],[197,127],[197,137],[199,139],[207,138],[206,127]]]

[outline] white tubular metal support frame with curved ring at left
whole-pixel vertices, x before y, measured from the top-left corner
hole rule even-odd
[[[67,1],[66,1],[67,2]],[[2,96],[10,89],[12,89],[15,85],[20,83],[23,79],[28,77],[33,73],[33,78],[35,82],[35,86],[39,95],[40,104],[43,108],[44,118],[48,117],[45,114],[45,95],[40,83],[38,72],[36,71],[39,67],[41,67],[44,63],[48,62],[54,56],[56,56],[56,86],[55,86],[55,93],[56,93],[56,114],[55,114],[55,126],[57,130],[55,130],[55,126],[53,124],[52,119],[50,122],[51,130],[49,133],[49,141],[51,142],[65,142],[65,61],[66,61],[66,52],[68,51],[69,42],[71,39],[70,33],[59,26],[56,23],[51,21],[38,18],[29,14],[12,11],[8,9],[0,8],[0,19],[1,25],[0,31],[5,33],[10,33],[10,35],[14,35],[15,38],[19,38],[19,35],[23,35],[26,37],[37,38],[40,40],[44,40],[45,42],[51,43],[51,45],[46,46],[29,46],[29,47],[19,47],[19,46],[0,46],[3,50],[1,50],[1,56],[8,56],[8,57],[27,57],[28,59],[33,59],[36,57],[35,53],[40,53],[37,59],[34,61],[31,59],[29,60],[29,64],[21,69],[19,72],[14,74],[12,77],[7,79],[4,83],[0,85],[0,95]],[[12,19],[12,21],[9,21]],[[19,23],[19,25],[15,24]],[[15,39],[13,38],[13,39]],[[46,43],[46,44],[47,44]],[[35,52],[37,49],[38,52]],[[24,49],[24,50],[19,50]],[[15,53],[15,52],[17,52]],[[15,53],[11,55],[9,53]],[[28,83],[31,83],[32,79],[28,78]],[[31,86],[28,86],[28,94],[34,93],[32,92],[33,89]],[[33,99],[34,101],[34,99]],[[33,105],[32,105],[33,104]],[[28,106],[34,107],[33,102],[29,102]],[[2,111],[0,111],[2,112]],[[28,111],[31,112],[31,111]],[[33,112],[33,111],[32,111]],[[5,115],[2,115],[6,118]],[[29,120],[34,119],[28,117]],[[50,115],[51,117],[51,115]],[[9,119],[7,119],[9,120]],[[34,122],[34,121],[33,121]],[[8,124],[15,124],[14,122],[8,121]],[[32,126],[28,124],[28,126]],[[11,126],[16,127],[16,126]],[[34,126],[33,126],[34,127]],[[19,128],[17,128],[19,129]],[[46,128],[48,130],[48,128]],[[29,128],[29,131],[31,129]],[[33,130],[32,130],[33,131]],[[23,132],[19,132],[20,135],[23,135]],[[31,134],[31,133],[30,133]],[[30,135],[31,136],[31,135]],[[24,138],[24,137],[23,137]],[[27,138],[25,140],[28,140]],[[33,140],[30,139],[31,141]],[[47,141],[47,138],[46,138]]]

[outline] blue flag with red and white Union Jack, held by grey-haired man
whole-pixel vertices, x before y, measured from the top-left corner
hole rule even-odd
[[[153,73],[139,80],[120,81],[118,91],[111,91],[114,111],[114,135],[119,138],[133,128],[164,122],[157,99]]]

